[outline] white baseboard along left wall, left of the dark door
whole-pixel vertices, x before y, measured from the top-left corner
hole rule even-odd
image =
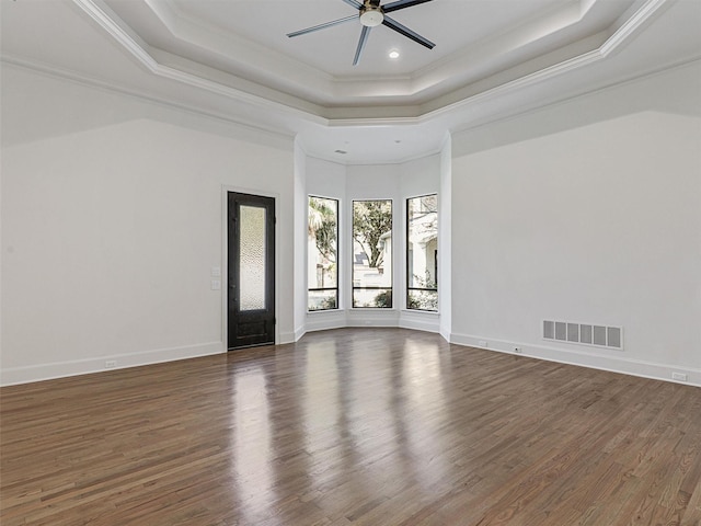
[[[141,365],[173,362],[176,359],[196,358],[211,354],[225,353],[223,342],[208,342],[182,347],[157,348],[140,353],[116,354],[88,359],[56,362],[53,364],[33,365],[28,367],[9,367],[0,371],[0,386],[28,384],[31,381],[53,380],[68,376],[88,375],[104,370],[124,369]],[[115,362],[114,367],[106,368],[106,362]]]

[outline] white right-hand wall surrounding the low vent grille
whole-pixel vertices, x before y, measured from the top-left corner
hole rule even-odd
[[[648,90],[650,107],[678,73]],[[492,148],[504,123],[455,137],[467,153],[452,161],[452,341],[701,385],[701,98],[602,114],[644,91],[512,119],[513,140]],[[598,122],[566,128],[588,104]],[[544,319],[622,325],[624,348],[545,342]]]

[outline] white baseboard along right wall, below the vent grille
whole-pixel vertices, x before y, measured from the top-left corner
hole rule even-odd
[[[474,336],[470,334],[451,333],[450,343],[467,345],[471,347],[485,348],[499,353],[518,354],[532,358],[556,362],[560,364],[577,365],[593,369],[608,370],[623,375],[640,376],[655,380],[674,381],[689,386],[701,387],[701,369],[693,367],[674,367],[665,364],[656,364],[641,359],[622,356],[622,352],[612,351],[608,356],[573,348],[555,347],[549,345],[533,345],[529,343],[512,342],[506,340],[494,340],[485,336]],[[515,353],[514,347],[520,348],[520,353]],[[687,375],[686,381],[673,379],[673,373]]]

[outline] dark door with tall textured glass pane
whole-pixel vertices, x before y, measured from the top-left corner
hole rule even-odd
[[[229,192],[228,347],[275,343],[275,199]]]

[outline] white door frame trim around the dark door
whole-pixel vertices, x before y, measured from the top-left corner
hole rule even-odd
[[[229,351],[229,192],[238,194],[260,195],[261,197],[272,197],[275,199],[275,217],[279,217],[280,194],[277,192],[265,192],[261,190],[246,188],[243,186],[221,185],[221,347],[222,352]],[[275,345],[280,343],[279,323],[279,259],[280,259],[280,236],[279,221],[275,221]]]

